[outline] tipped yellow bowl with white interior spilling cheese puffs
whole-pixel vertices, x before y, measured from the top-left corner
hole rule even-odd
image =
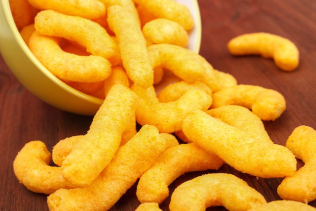
[[[31,53],[15,27],[8,0],[0,0],[0,53],[11,72],[30,92],[46,103],[76,114],[94,115],[103,100],[79,92],[52,75]],[[188,48],[199,51],[201,22],[197,0],[177,0],[194,18]]]

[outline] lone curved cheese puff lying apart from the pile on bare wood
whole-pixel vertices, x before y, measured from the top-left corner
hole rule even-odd
[[[272,57],[276,66],[284,71],[294,70],[299,62],[299,52],[294,43],[269,33],[237,36],[229,41],[228,50],[233,55],[260,54],[265,58]]]

